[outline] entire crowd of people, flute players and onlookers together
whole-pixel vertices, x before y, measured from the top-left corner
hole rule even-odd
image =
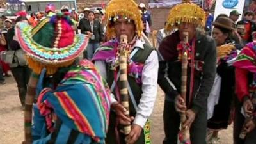
[[[209,10],[178,4],[157,47],[143,38],[150,12],[133,0],[111,0],[106,12],[48,4],[29,19],[17,15],[1,16],[0,84],[11,71],[26,113],[26,93],[33,95],[26,131],[34,144],[150,143],[157,84],[165,93],[163,144],[217,144],[230,124],[234,144],[256,143],[255,12],[213,21]]]

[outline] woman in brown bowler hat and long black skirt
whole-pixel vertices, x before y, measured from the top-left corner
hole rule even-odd
[[[208,120],[208,143],[218,141],[218,131],[227,129],[230,119],[232,98],[234,97],[234,67],[232,61],[237,56],[236,44],[231,39],[232,21],[227,17],[219,17],[213,23],[212,36],[217,44],[217,75],[221,77],[220,90],[218,92],[218,104],[214,107],[213,116]]]

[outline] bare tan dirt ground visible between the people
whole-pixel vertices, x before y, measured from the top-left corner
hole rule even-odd
[[[161,144],[163,131],[164,95],[161,89],[157,95],[152,121],[152,144]],[[22,111],[17,85],[13,77],[6,78],[6,84],[0,85],[0,144],[20,144],[24,140],[24,112]],[[220,132],[220,143],[232,144],[232,127]]]

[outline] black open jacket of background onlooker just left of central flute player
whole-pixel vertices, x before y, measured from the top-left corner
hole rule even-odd
[[[81,33],[86,34],[86,31],[91,32],[91,26],[90,26],[89,20],[81,20],[80,22],[81,22],[81,25],[80,24],[79,25],[80,25]],[[94,20],[93,22],[93,35],[95,35],[95,39],[94,40],[90,39],[89,43],[103,42],[104,40],[103,28],[98,20]]]

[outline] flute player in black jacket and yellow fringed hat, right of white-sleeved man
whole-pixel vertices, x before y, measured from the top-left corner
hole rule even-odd
[[[177,144],[180,115],[185,113],[185,127],[190,128],[192,144],[206,144],[207,97],[216,74],[216,44],[199,28],[205,26],[205,12],[189,1],[170,10],[167,29],[178,31],[166,36],[159,46],[158,84],[166,95],[164,102],[164,144]],[[184,32],[188,33],[185,43]],[[186,49],[184,49],[186,47]],[[188,54],[186,102],[181,97],[181,61]]]

